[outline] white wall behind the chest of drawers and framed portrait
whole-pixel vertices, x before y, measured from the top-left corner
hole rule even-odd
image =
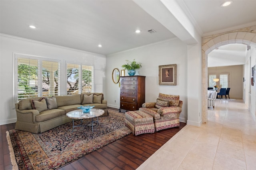
[[[198,57],[199,58],[199,57]],[[144,47],[138,47],[129,51],[123,51],[106,57],[106,95],[108,96],[108,106],[120,107],[120,88],[112,81],[112,71],[114,68],[122,69],[122,64],[126,60],[142,63],[142,68],[135,75],[146,76],[145,102],[155,102],[159,93],[180,95],[182,100],[182,113],[180,121],[187,120],[187,45],[179,39],[172,39],[159,42]],[[158,84],[158,66],[166,64],[177,64],[177,85],[163,86]],[[125,70],[125,76],[128,76]],[[116,102],[114,102],[116,100]]]

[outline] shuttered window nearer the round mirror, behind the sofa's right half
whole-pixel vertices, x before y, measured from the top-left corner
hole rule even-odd
[[[93,67],[67,63],[67,94],[93,92]]]

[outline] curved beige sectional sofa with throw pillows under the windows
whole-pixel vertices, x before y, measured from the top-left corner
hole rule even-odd
[[[68,123],[72,119],[66,113],[80,106],[95,106],[108,115],[107,101],[102,93],[82,93],[68,96],[26,98],[16,103],[17,122],[15,129],[42,133]]]

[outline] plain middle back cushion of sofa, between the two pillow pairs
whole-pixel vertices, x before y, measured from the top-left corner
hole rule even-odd
[[[73,104],[81,104],[80,94],[68,95],[68,96],[55,96],[57,106],[68,106]]]

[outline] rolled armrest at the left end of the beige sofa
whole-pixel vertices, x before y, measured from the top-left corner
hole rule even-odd
[[[16,109],[17,121],[23,121],[28,123],[35,123],[36,116],[39,115],[39,111],[36,109]]]

